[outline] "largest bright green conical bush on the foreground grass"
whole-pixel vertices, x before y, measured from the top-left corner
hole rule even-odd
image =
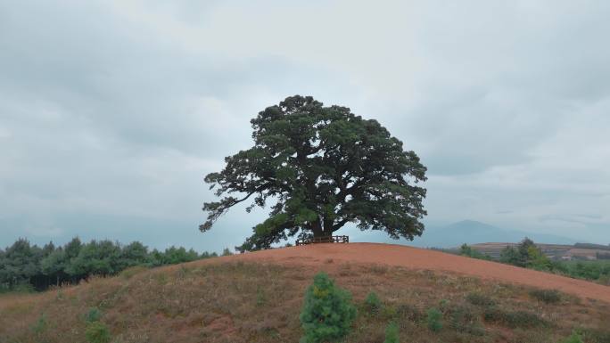
[[[334,285],[326,273],[319,273],[305,292],[301,327],[305,335],[301,343],[320,343],[341,339],[350,331],[356,318],[351,295]]]

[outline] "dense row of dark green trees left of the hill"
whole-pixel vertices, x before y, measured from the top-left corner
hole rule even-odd
[[[228,249],[223,255],[231,254]],[[139,241],[128,245],[108,240],[83,243],[78,237],[64,246],[53,241],[42,248],[26,239],[0,249],[0,292],[46,290],[53,285],[74,284],[91,275],[109,276],[129,267],[174,265],[197,259],[217,257],[215,252],[199,254],[194,249],[170,247],[149,250]]]

